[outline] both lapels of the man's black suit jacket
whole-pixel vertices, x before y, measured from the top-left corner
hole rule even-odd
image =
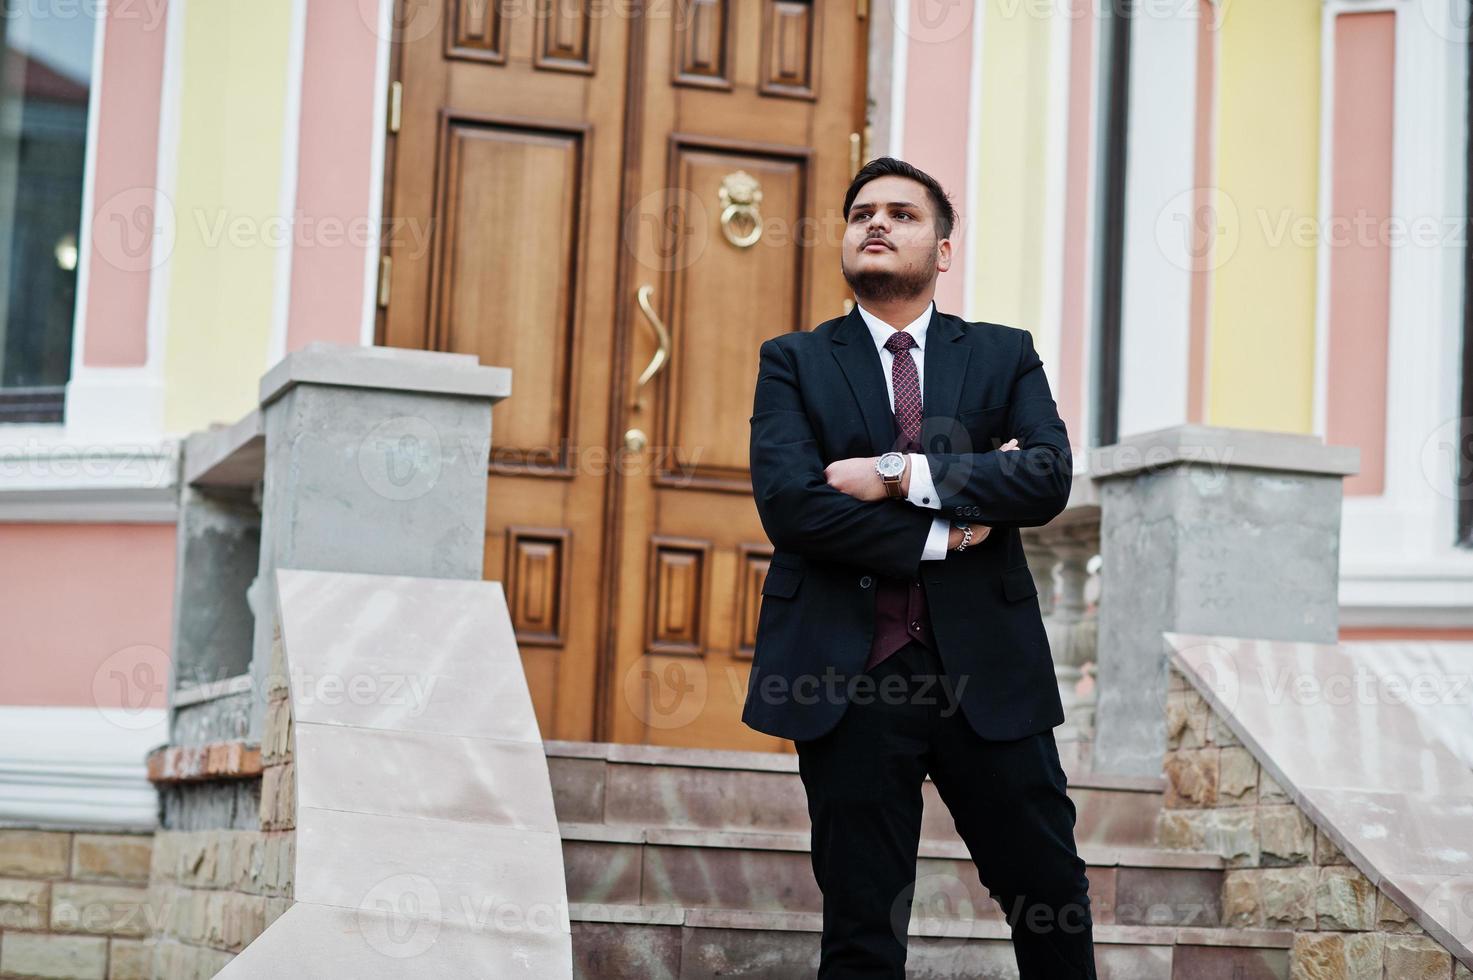
[[[962,343],[965,332],[955,317],[931,307],[931,321],[927,324],[925,380],[921,391],[922,426],[925,419],[950,419],[962,396],[962,380],[966,377],[966,363],[972,355],[969,345]],[[890,408],[890,393],[885,388],[879,352],[859,307],[834,330],[834,360],[838,361],[848,380],[859,414],[869,435],[869,448],[879,455],[896,445],[896,414]],[[922,429],[924,432],[924,429]]]

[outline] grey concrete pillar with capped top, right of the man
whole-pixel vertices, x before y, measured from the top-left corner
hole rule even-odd
[[[1096,772],[1161,775],[1164,631],[1335,643],[1354,447],[1173,426],[1090,451],[1100,501]]]

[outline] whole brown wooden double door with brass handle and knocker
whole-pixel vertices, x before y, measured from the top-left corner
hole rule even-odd
[[[741,724],[762,340],[840,315],[857,0],[404,0],[379,342],[513,368],[486,578],[546,738]]]

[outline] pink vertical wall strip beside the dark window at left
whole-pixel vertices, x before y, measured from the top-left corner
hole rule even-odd
[[[108,10],[82,363],[140,367],[149,357],[166,0]]]

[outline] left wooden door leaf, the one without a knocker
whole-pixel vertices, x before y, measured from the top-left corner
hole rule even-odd
[[[402,4],[380,318],[380,343],[513,371],[511,398],[492,411],[486,578],[505,587],[544,737],[577,740],[600,737],[611,175],[623,169],[630,25],[586,6],[560,1],[542,18],[542,4]]]

